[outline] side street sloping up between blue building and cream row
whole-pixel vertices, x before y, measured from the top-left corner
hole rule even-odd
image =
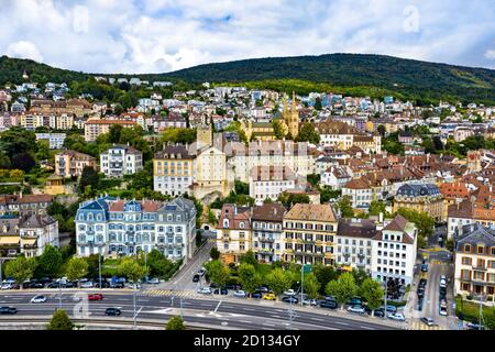
[[[193,276],[199,271],[202,264],[210,258],[210,250],[215,245],[212,239],[193,256],[186,265],[168,282],[156,285],[157,289],[173,289],[173,290],[194,290],[202,283],[193,283]],[[202,278],[204,280],[204,278]]]

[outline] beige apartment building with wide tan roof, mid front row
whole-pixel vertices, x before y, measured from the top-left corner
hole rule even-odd
[[[284,216],[284,260],[333,265],[337,227],[330,205],[296,204]]]

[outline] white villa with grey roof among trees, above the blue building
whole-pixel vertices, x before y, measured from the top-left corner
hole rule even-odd
[[[100,154],[101,173],[107,177],[122,177],[143,169],[143,154],[129,145],[113,145]]]

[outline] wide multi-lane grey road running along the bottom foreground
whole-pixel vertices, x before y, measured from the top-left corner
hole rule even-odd
[[[58,308],[58,294],[56,292],[43,293],[48,299],[44,304],[30,304],[35,293],[2,293],[0,302],[2,306],[16,307],[19,316],[51,316]],[[74,317],[74,293],[63,293],[63,308],[70,317]],[[133,296],[131,293],[107,294],[102,301],[90,301],[88,305],[89,317],[103,317],[108,307],[120,307],[122,316],[133,317]],[[280,330],[288,329],[288,305],[275,302],[248,304],[239,301],[221,301],[218,299],[183,299],[177,297],[138,296],[136,309],[141,309],[139,319],[163,320],[164,323],[173,316],[180,315],[189,323],[198,322],[218,327],[218,329],[250,329],[250,330]],[[371,317],[339,317],[333,314],[326,315],[323,309],[308,308],[296,310],[290,328],[300,330],[396,330],[400,324],[388,322],[385,324],[378,318]],[[9,316],[2,316],[2,319]]]

